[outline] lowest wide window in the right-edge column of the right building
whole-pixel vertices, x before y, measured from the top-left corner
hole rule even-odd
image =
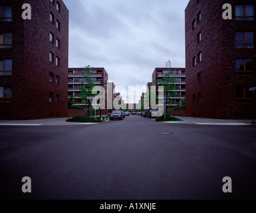
[[[236,103],[253,103],[254,92],[250,91],[250,87],[236,87],[235,93]]]

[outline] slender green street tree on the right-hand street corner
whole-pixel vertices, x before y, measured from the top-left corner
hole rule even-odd
[[[157,86],[164,87],[164,118],[166,118],[166,100],[168,100],[168,111],[170,113],[170,105],[173,103],[172,98],[176,97],[176,77],[170,77],[171,73],[170,60],[166,62],[166,73],[162,80],[157,83]]]

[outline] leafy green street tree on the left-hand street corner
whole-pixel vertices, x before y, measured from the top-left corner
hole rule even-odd
[[[84,103],[88,106],[88,111],[90,111],[90,114],[92,116],[92,103],[88,99],[88,97],[95,97],[96,95],[92,94],[92,89],[96,87],[95,83],[92,81],[91,73],[94,71],[94,67],[90,67],[88,65],[83,70],[84,80],[85,83],[82,83],[83,87],[80,88],[80,98],[84,100]]]

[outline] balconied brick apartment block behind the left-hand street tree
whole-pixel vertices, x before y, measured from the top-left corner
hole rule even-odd
[[[80,97],[80,89],[84,87],[82,83],[86,83],[83,74],[84,68],[69,68],[68,69],[68,95],[69,97],[73,96],[75,98],[76,104],[75,106],[86,107],[87,103]],[[102,114],[108,114],[108,99],[107,99],[107,85],[108,83],[108,73],[104,68],[94,68],[94,71],[88,73],[88,75],[92,77],[92,81],[94,81],[96,86],[102,86],[105,89],[105,109],[102,110]],[[103,83],[103,84],[102,84]],[[112,89],[114,89],[114,84],[112,85]]]

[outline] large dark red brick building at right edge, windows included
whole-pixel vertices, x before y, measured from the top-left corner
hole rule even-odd
[[[256,118],[255,0],[190,0],[185,28],[186,116]]]

